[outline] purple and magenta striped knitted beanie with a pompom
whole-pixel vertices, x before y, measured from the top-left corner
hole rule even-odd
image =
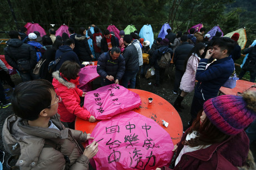
[[[204,103],[204,112],[213,125],[227,135],[236,135],[256,118],[256,92],[243,96],[221,95]]]

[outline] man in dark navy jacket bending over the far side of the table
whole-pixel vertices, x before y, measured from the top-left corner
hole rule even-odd
[[[101,86],[119,84],[125,73],[125,59],[120,48],[113,47],[109,52],[102,53],[97,63],[97,73],[102,77]]]

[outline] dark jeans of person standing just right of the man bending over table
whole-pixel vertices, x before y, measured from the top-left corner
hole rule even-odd
[[[125,70],[125,74],[124,76],[122,76],[122,86],[124,86],[125,88],[128,88],[128,83],[130,81],[129,88],[134,89],[136,84],[136,75],[138,71],[139,71],[139,68],[134,71]]]

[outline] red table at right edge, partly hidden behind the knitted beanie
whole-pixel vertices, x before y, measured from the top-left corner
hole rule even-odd
[[[227,87],[220,87],[219,91],[224,95],[237,95],[237,92],[243,93],[245,90],[248,90],[253,85],[256,85],[256,83],[252,83],[250,81],[245,81],[245,80],[237,80],[237,85],[234,87],[234,89],[229,89]],[[256,88],[252,87],[249,90],[256,91]]]

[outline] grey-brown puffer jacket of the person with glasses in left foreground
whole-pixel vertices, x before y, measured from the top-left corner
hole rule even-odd
[[[58,114],[50,120],[59,130],[29,126],[28,121],[14,115],[7,117],[2,139],[6,151],[20,154],[16,166],[26,170],[88,169],[89,159],[78,145],[86,141],[87,134],[65,128]]]

